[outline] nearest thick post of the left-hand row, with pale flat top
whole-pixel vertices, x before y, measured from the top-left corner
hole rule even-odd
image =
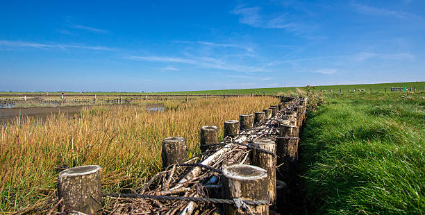
[[[96,214],[102,207],[101,169],[101,166],[90,165],[61,171],[58,176],[58,196],[63,198],[60,210]]]

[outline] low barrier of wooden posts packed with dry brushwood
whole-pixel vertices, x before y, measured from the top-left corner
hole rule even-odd
[[[306,98],[282,97],[282,102],[276,106],[254,115],[241,114],[239,121],[226,121],[223,141],[218,141],[215,126],[203,126],[202,153],[190,159],[185,157],[187,146],[184,138],[164,139],[163,171],[134,193],[103,195],[115,201],[112,209],[103,212],[269,214],[269,209],[276,208],[276,184],[278,189],[285,187],[284,182],[276,182],[276,173],[278,178],[285,178],[297,160],[298,132],[306,111],[306,102]],[[89,171],[92,174],[97,169],[93,167]],[[63,198],[63,206],[88,214],[100,209],[99,187],[90,191],[90,187],[97,185],[87,182],[90,185],[84,189],[90,195],[85,203],[76,203],[70,188],[75,185],[68,179],[75,178],[75,175],[70,172],[64,175],[64,172],[60,173],[58,179],[59,197]],[[85,174],[78,170],[74,173]],[[100,180],[100,174],[92,178]],[[78,183],[82,183],[81,179]],[[78,195],[81,199],[81,193]],[[92,203],[88,203],[90,201]],[[84,209],[78,209],[82,207]]]

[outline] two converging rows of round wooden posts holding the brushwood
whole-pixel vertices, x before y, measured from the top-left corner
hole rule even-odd
[[[253,126],[278,122],[278,135],[273,139],[255,139],[251,144],[262,150],[252,150],[250,165],[235,164],[222,169],[222,196],[226,199],[269,200],[269,205],[251,206],[253,214],[269,214],[276,208],[276,166],[278,178],[285,179],[298,156],[299,128],[306,113],[306,98],[292,98],[254,114],[240,114],[239,120],[224,122],[224,137],[237,137],[240,131]],[[277,114],[279,113],[279,118]],[[275,117],[276,119],[272,119]],[[203,126],[200,131],[201,150],[219,143],[216,126]],[[275,154],[275,155],[274,155]],[[183,137],[163,139],[163,167],[183,164],[188,160],[188,146]],[[61,171],[58,176],[58,196],[61,207],[85,214],[101,209],[101,167],[78,166]],[[240,214],[235,205],[225,205],[224,214]]]

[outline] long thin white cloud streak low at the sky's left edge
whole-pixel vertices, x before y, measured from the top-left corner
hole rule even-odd
[[[114,49],[106,46],[89,46],[86,44],[42,44],[36,42],[24,42],[24,41],[10,41],[0,40],[0,46],[7,47],[22,47],[22,48],[34,48],[34,49],[91,49],[101,51],[111,51]]]

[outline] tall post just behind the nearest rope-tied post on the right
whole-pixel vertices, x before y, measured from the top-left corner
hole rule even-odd
[[[269,150],[276,153],[276,144],[269,139],[257,139],[253,141],[252,146]],[[270,203],[274,204],[276,201],[276,156],[270,155],[260,150],[253,150],[252,164],[267,171],[268,188]]]

